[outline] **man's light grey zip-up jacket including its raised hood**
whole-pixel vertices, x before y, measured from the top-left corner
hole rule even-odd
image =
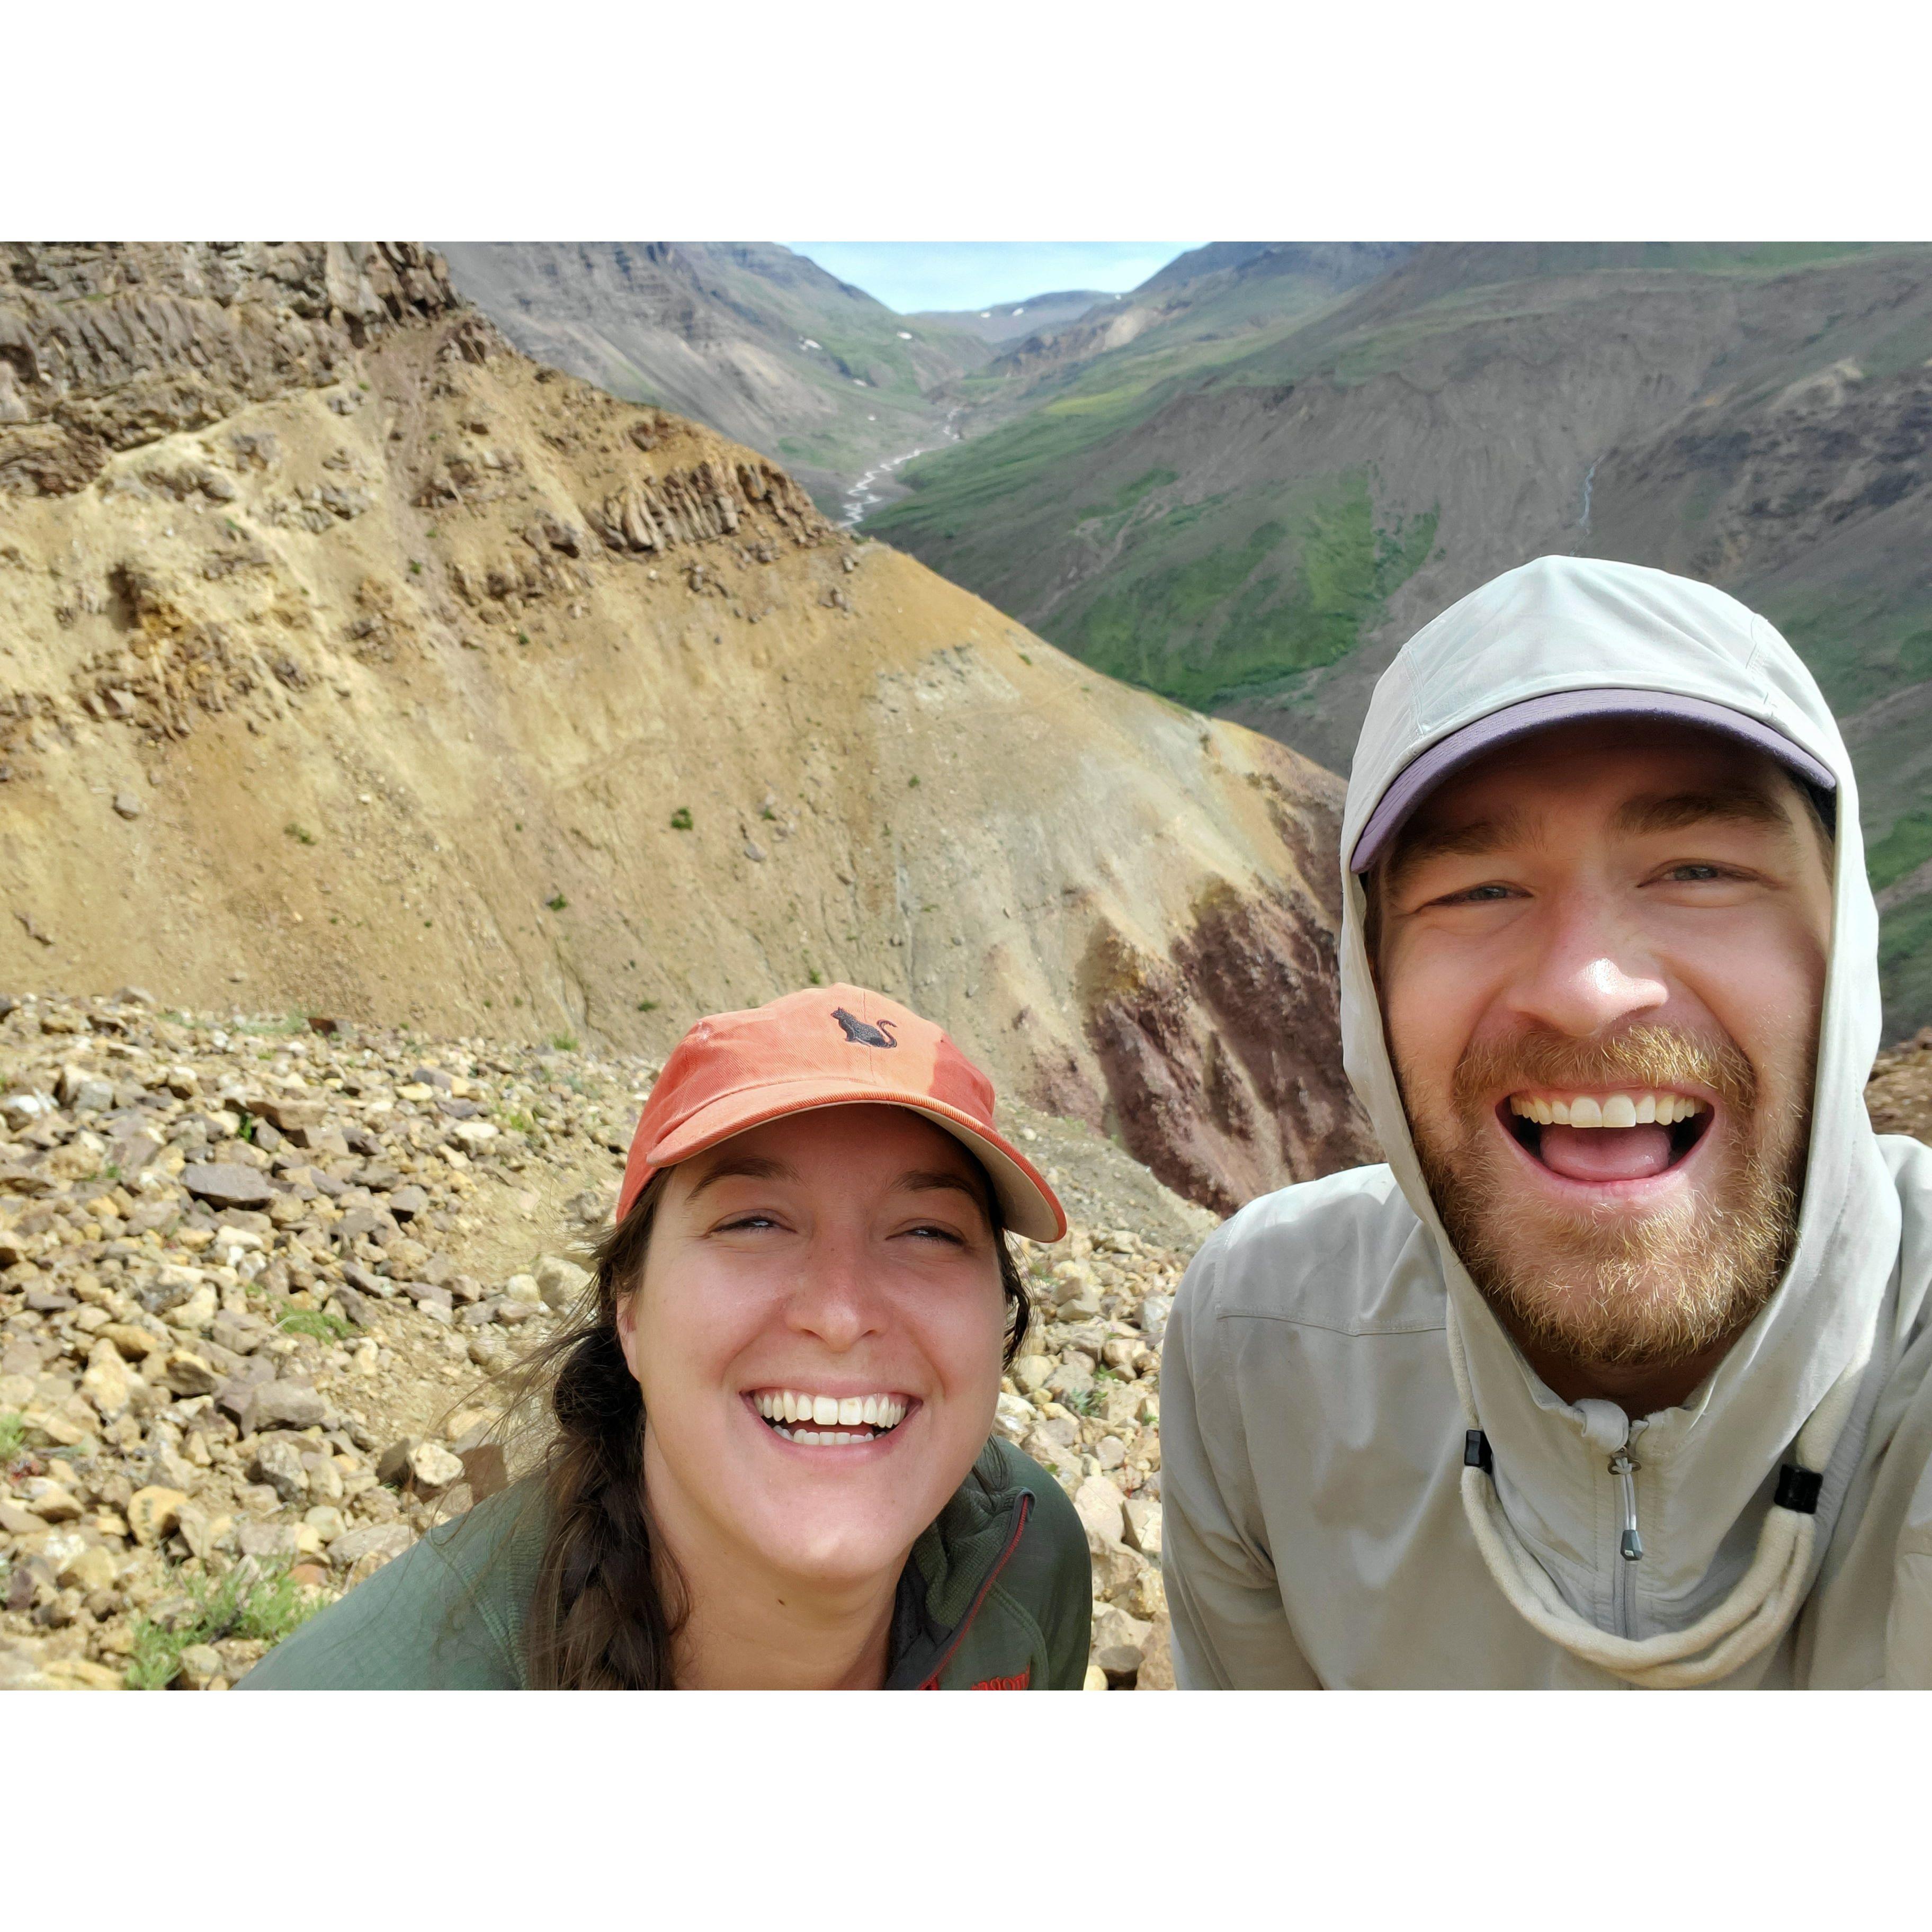
[[[1345,871],[1345,1055],[1387,1165],[1252,1202],[1180,1289],[1161,1480],[1182,1687],[1932,1687],[1932,1151],[1874,1136],[1864,1113],[1878,912],[1851,759],[1810,672],[1719,591],[1629,564],[1526,564],[1412,638],[1376,688],[1343,854],[1435,740],[1600,686],[1714,699],[1837,775],[1791,1265],[1710,1379],[1644,1430],[1644,1557],[1625,1561],[1607,1455],[1623,1414],[1559,1401],[1449,1248]],[[1464,1464],[1472,1428],[1493,1474]],[[1787,1463],[1822,1468],[1810,1515],[1774,1509]],[[1681,1656],[1692,1627],[1706,1640]]]

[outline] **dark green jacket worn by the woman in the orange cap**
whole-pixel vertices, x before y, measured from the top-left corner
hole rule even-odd
[[[522,1482],[439,1524],[278,1644],[238,1690],[524,1690],[545,1513]],[[1059,1484],[995,1437],[898,1580],[889,1690],[1078,1690],[1086,1532]]]

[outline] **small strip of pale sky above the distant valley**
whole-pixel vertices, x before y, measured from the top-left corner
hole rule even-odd
[[[889,309],[987,309],[1061,288],[1121,294],[1198,242],[786,242]]]

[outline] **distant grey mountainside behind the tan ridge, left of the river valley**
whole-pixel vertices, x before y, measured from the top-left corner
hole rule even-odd
[[[991,348],[902,317],[775,242],[452,242],[450,280],[526,355],[782,462],[833,514],[943,440],[939,390]],[[978,319],[976,319],[978,323]]]

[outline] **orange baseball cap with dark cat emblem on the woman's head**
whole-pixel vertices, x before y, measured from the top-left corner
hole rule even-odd
[[[670,1051],[643,1103],[616,1198],[618,1221],[665,1167],[748,1126],[813,1107],[910,1107],[970,1148],[1007,1225],[1059,1240],[1066,1213],[1032,1161],[993,1126],[993,1082],[916,1012],[862,985],[815,985],[746,1012],[713,1012]]]

